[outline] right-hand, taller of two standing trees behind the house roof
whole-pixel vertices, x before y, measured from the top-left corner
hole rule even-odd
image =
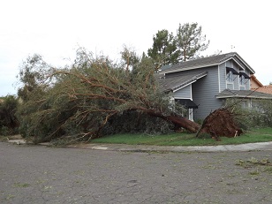
[[[197,57],[200,51],[208,49],[209,41],[206,42],[206,35],[202,35],[202,27],[197,23],[179,24],[177,36],[177,47],[180,53],[179,61],[186,61]]]

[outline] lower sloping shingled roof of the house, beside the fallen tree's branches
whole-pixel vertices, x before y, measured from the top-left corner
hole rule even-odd
[[[161,77],[158,79],[159,86],[162,91],[177,91],[182,87],[186,87],[189,84],[192,84],[197,79],[205,77],[208,72],[198,72],[198,73],[187,73],[187,74],[180,74],[176,77]],[[162,75],[161,75],[162,76]]]

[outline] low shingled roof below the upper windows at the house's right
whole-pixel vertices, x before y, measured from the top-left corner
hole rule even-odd
[[[230,90],[225,89],[223,92],[215,95],[216,98],[262,98],[272,99],[272,94],[265,94],[252,90]]]

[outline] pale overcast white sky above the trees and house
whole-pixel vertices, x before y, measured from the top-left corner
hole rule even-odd
[[[272,82],[270,4],[269,0],[3,0],[0,96],[17,93],[19,64],[34,53],[56,66],[72,60],[79,46],[117,58],[127,45],[141,55],[152,46],[158,30],[176,34],[178,24],[187,22],[197,22],[210,40],[205,54],[236,51],[268,85]]]

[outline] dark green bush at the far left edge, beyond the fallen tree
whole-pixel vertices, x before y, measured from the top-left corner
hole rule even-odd
[[[14,95],[7,95],[0,102],[0,135],[18,132],[19,120],[15,116],[19,102]]]

